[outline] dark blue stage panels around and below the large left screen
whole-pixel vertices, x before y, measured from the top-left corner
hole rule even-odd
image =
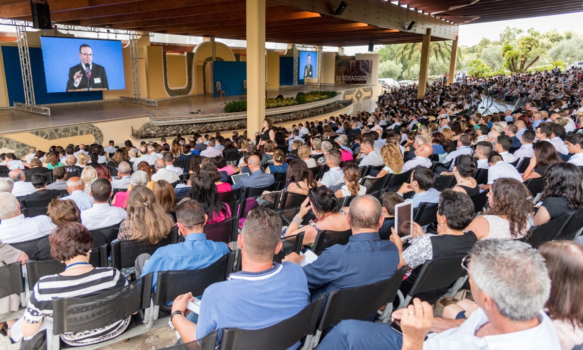
[[[33,75],[34,98],[37,104],[103,100],[103,92],[101,91],[48,93],[44,75],[43,53],[37,47],[31,47],[29,51]],[[2,46],[2,57],[2,68],[6,74],[6,86],[10,106],[13,105],[13,101],[24,103],[24,87],[22,85],[18,47]]]

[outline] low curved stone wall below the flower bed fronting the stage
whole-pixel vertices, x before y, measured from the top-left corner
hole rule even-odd
[[[326,104],[325,106],[319,106],[314,108],[309,108],[301,111],[294,111],[289,113],[268,115],[266,118],[271,120],[273,124],[278,125],[283,122],[289,122],[294,120],[305,120],[307,118],[317,117],[321,114],[331,113],[333,111],[340,110],[349,102],[346,101],[335,101],[333,103]],[[229,131],[229,130],[240,130],[247,128],[247,119],[238,118],[236,120],[228,120],[219,122],[202,122],[202,123],[192,123],[192,124],[174,124],[174,125],[153,125],[150,122],[142,125],[139,129],[132,129],[132,136],[138,139],[149,139],[149,138],[160,138],[167,136],[180,135],[190,135],[195,132],[198,134],[209,134],[217,131]]]

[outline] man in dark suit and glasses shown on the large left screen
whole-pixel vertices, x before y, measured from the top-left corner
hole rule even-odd
[[[82,44],[79,47],[79,58],[81,63],[69,68],[67,90],[109,89],[106,69],[93,63],[93,50],[89,45]]]

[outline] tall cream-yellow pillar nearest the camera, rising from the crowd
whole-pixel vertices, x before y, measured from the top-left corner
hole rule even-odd
[[[247,136],[265,119],[265,0],[247,0]]]

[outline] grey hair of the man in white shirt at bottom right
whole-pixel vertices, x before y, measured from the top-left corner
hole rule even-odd
[[[550,296],[550,278],[535,248],[521,241],[488,239],[477,241],[469,255],[473,281],[502,316],[514,321],[538,316]]]

